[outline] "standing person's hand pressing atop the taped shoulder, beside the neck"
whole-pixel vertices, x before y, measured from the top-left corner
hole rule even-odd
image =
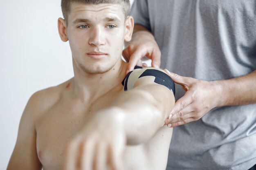
[[[126,44],[126,49],[123,51],[123,56],[126,62],[129,62],[127,66],[127,73],[132,71],[135,65],[140,62],[140,59],[144,56],[152,60],[152,66],[159,68],[161,52],[155,41],[154,36],[149,32],[141,31],[142,26],[139,27],[139,31],[134,31],[132,40]]]

